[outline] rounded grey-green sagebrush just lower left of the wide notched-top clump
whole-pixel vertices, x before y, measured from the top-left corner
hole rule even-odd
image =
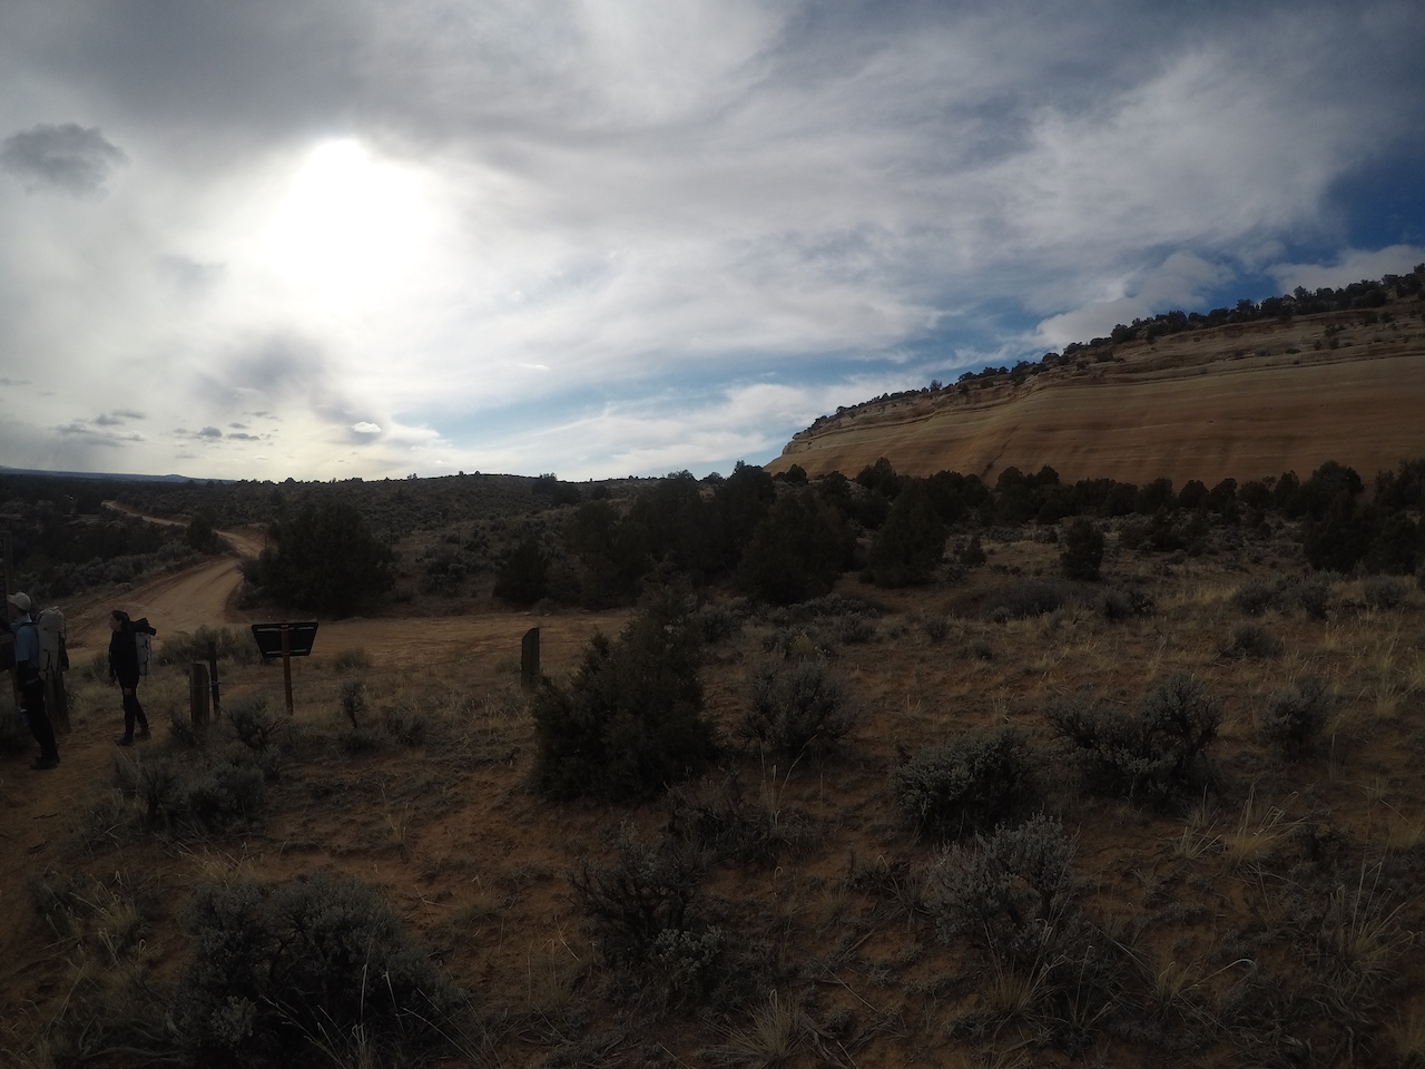
[[[1029,743],[1013,727],[968,731],[905,761],[892,791],[922,834],[958,838],[990,828],[1035,797]]]

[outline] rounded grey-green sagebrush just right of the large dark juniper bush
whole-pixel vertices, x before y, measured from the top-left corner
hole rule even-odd
[[[791,760],[829,750],[856,723],[846,684],[821,659],[767,661],[750,688],[741,733]]]

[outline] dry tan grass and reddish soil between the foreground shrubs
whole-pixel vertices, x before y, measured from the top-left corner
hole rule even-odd
[[[1275,1012],[1261,991],[1324,992],[1320,1013],[1295,1026],[1318,1046],[1351,1022],[1372,1050],[1419,1062],[1414,1006],[1425,965],[1409,949],[1422,918],[1411,897],[1391,891],[1414,887],[1406,881],[1425,828],[1425,765],[1411,741],[1425,693],[1425,614],[1332,610],[1327,624],[1301,613],[1267,616],[1290,653],[1221,661],[1217,643],[1241,623],[1231,593],[1245,579],[1270,579],[1292,552],[1285,537],[1270,547],[1275,556],[1260,566],[1204,556],[1167,574],[1160,557],[1123,552],[1113,582],[1143,584],[1159,609],[1113,623],[1083,609],[1003,624],[948,614],[953,597],[1006,582],[988,569],[953,589],[874,592],[885,607],[876,637],[832,643],[865,717],[841,753],[815,760],[774,767],[735,741],[745,664],[775,629],[752,621],[720,646],[704,670],[708,716],[728,741],[720,773],[738,774],[774,848],[745,861],[700,861],[700,916],[727,932],[727,945],[708,983],[675,996],[630,986],[598,964],[566,879],[580,858],[607,858],[607,835],[624,821],[660,834],[664,804],[554,805],[527,787],[533,724],[502,664],[513,660],[529,617],[443,620],[440,654],[410,663],[380,646],[389,641],[380,627],[353,624],[351,641],[333,639],[332,649],[369,650],[365,663],[342,659],[338,668],[335,657],[314,659],[296,668],[296,716],[261,818],[198,838],[135,831],[134,800],[108,787],[117,691],[76,678],[64,768],[83,775],[64,791],[77,800],[73,821],[83,834],[67,837],[60,808],[24,795],[3,770],[17,814],[6,832],[21,838],[7,854],[20,875],[0,891],[53,868],[91,882],[144,872],[162,894],[151,907],[130,895],[133,908],[95,898],[98,908],[83,918],[60,912],[44,926],[10,911],[6,945],[34,966],[0,988],[9,1022],[0,1042],[19,1063],[47,1066],[73,1056],[80,1015],[108,1022],[108,1036],[131,1021],[161,1022],[185,954],[178,916],[194,887],[326,869],[378,884],[420,945],[473,993],[486,1016],[452,1056],[477,1065],[1060,1066],[1072,1048],[1072,1058],[1106,1069],[1186,1060],[1226,1069],[1251,1063],[1248,1033],[1270,1032],[1270,1021],[1243,1018],[1244,1002]],[[995,549],[992,560],[1025,554],[1029,569],[1045,567],[1052,547]],[[842,590],[872,593],[852,577]],[[945,633],[931,641],[918,621],[936,616]],[[540,623],[556,677],[577,664],[596,623],[617,630],[617,617],[574,613]],[[1045,727],[1046,703],[1090,691],[1131,710],[1174,671],[1197,674],[1224,713],[1190,798],[1156,811],[1073,790]],[[1305,676],[1328,680],[1340,701],[1317,751],[1287,763],[1255,740],[1253,714],[1265,694]],[[366,687],[365,748],[343,745],[351,724],[339,696],[352,680]],[[141,694],[165,735],[170,711],[184,714],[187,680],[165,668]],[[279,707],[281,670],[235,666],[224,700],[245,696]],[[403,741],[416,721],[419,737]],[[922,879],[939,844],[916,840],[901,821],[892,770],[906,753],[1006,723],[1032,740],[1039,804],[1077,838],[1080,919],[1094,945],[1113,948],[1103,964],[1119,985],[1112,1022],[1087,996],[1087,974],[986,959],[969,942],[939,939],[926,916]],[[225,731],[215,725],[208,753],[234,744]],[[192,753],[177,740],[147,747],[135,755]],[[1362,869],[1377,862],[1389,879]],[[979,1031],[950,1031],[952,1021]],[[373,1056],[361,1035],[318,1039],[342,1063]]]

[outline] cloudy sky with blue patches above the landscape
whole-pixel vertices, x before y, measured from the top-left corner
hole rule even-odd
[[[1425,19],[0,0],[0,465],[767,463],[838,405],[1425,261]]]

